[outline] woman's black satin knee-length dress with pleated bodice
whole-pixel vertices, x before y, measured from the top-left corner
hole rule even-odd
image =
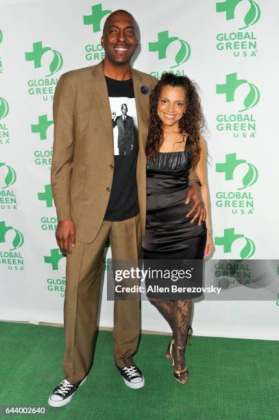
[[[158,152],[155,161],[147,158],[147,217],[143,238],[143,259],[146,268],[186,269],[189,264],[193,266],[191,260],[204,259],[206,223],[202,222],[199,226],[197,222],[190,223],[191,217],[186,218],[186,213],[193,206],[193,200],[188,205],[185,204],[191,166],[190,142],[186,142],[184,152]],[[195,285],[197,280],[199,285],[202,285],[201,264],[198,270],[199,275],[197,270],[195,271]],[[171,280],[159,279],[157,283],[165,287],[170,285]],[[154,281],[147,276],[146,290],[151,284],[154,284]],[[194,283],[192,279],[192,283],[180,281],[180,284]],[[201,295],[202,293],[195,296],[192,293],[172,294],[170,300],[191,299]],[[156,292],[147,292],[147,296],[169,299],[169,296]]]

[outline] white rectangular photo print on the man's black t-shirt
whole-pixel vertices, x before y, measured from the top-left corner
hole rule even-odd
[[[138,120],[134,97],[110,97],[114,156],[138,152]]]

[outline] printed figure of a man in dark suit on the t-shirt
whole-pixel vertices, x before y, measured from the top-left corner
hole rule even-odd
[[[119,155],[128,155],[132,153],[134,148],[134,142],[138,135],[136,127],[134,126],[134,120],[128,113],[127,104],[121,105],[122,115],[116,115],[112,113],[112,127],[118,128],[118,141],[117,146],[119,149]]]

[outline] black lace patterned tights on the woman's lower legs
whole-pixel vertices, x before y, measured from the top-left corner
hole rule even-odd
[[[192,301],[159,301],[157,299],[149,299],[152,305],[156,306],[160,314],[167,320],[173,331],[173,359],[175,370],[180,371],[185,367],[184,347],[189,329],[189,323],[192,311]]]

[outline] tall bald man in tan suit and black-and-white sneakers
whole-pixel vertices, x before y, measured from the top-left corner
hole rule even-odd
[[[49,405],[64,406],[86,380],[93,360],[104,247],[112,259],[137,260],[145,232],[145,139],[149,94],[157,80],[130,67],[138,35],[133,16],[108,16],[101,38],[106,57],[99,65],[61,76],[53,101],[54,144],[51,186],[58,215],[56,239],[66,252],[64,329],[65,379]],[[119,154],[112,113],[125,103],[138,128],[129,155]],[[188,198],[203,209],[199,186]],[[144,386],[133,363],[139,334],[138,299],[114,302],[114,360],[130,388]]]

